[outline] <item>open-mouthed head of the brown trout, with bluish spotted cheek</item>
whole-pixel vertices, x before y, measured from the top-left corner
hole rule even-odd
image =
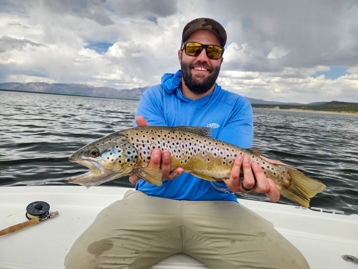
[[[69,181],[90,187],[130,175],[137,164],[138,153],[127,137],[112,133],[80,148],[69,160],[89,169]]]

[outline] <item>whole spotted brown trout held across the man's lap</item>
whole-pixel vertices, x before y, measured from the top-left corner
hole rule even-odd
[[[303,207],[309,207],[310,198],[326,186],[286,165],[272,164],[260,152],[245,149],[212,138],[209,127],[142,126],[111,133],[76,151],[70,161],[82,164],[90,171],[73,176],[69,181],[86,187],[135,174],[139,178],[160,186],[160,168],[147,166],[153,148],[169,150],[171,170],[182,167],[185,173],[216,181],[228,178],[236,156],[248,156],[257,162],[280,194]]]

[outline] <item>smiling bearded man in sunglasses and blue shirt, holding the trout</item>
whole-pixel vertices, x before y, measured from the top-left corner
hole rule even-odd
[[[189,22],[178,52],[181,70],[165,74],[160,85],[145,91],[136,124],[209,126],[214,138],[251,147],[250,103],[215,82],[225,43],[226,32],[215,20]],[[230,178],[217,182],[181,168],[170,171],[168,150],[155,148],[149,165],[162,169],[163,185],[131,176],[136,191],[98,214],[74,243],[66,268],[150,268],[178,252],[209,268],[309,268],[270,222],[237,203],[234,193],[250,190],[279,199],[276,185],[256,163],[238,156]]]

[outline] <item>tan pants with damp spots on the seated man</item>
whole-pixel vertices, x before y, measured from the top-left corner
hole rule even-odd
[[[100,212],[65,259],[71,268],[150,268],[184,252],[209,268],[309,268],[271,222],[240,204],[129,190]]]

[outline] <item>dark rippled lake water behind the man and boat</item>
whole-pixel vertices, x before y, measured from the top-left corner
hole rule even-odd
[[[73,185],[86,167],[68,157],[132,127],[138,101],[0,91],[0,186]],[[253,109],[253,146],[323,182],[312,207],[358,214],[358,117]],[[102,186],[133,187],[128,177]],[[84,187],[83,187],[84,188]],[[265,200],[263,194],[237,194]],[[281,198],[278,203],[294,204]]]

